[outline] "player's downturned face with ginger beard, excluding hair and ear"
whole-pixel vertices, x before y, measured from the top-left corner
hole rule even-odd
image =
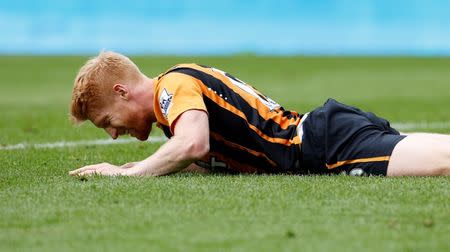
[[[116,101],[98,113],[92,122],[113,139],[130,135],[141,141],[148,139],[152,129],[150,118],[132,103]]]

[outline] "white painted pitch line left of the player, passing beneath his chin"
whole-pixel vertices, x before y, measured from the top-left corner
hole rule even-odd
[[[155,136],[150,137],[147,142],[150,143],[162,143],[167,141],[167,138],[164,136]],[[73,141],[73,142],[53,142],[53,143],[38,143],[38,144],[30,144],[30,143],[19,143],[14,145],[6,145],[0,146],[0,150],[20,150],[20,149],[54,149],[54,148],[64,148],[64,147],[78,147],[78,146],[87,146],[87,145],[110,145],[110,144],[126,144],[138,142],[136,139],[98,139],[98,140],[81,140],[81,141]]]

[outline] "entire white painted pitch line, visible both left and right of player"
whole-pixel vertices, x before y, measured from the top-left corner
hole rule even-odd
[[[408,131],[408,130],[441,130],[441,129],[450,129],[450,122],[399,122],[392,123],[392,127],[399,131]],[[162,143],[167,141],[165,136],[154,136],[150,137],[147,142],[150,143]],[[78,146],[88,146],[88,145],[110,145],[110,144],[126,144],[137,142],[136,139],[98,139],[98,140],[81,140],[81,141],[61,141],[61,142],[53,142],[53,143],[19,143],[14,145],[0,145],[0,151],[2,150],[20,150],[20,149],[53,149],[53,148],[64,148],[64,147],[78,147]]]

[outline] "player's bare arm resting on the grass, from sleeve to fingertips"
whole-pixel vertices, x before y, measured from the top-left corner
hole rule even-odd
[[[124,167],[102,163],[70,172],[70,175],[160,176],[183,170],[209,152],[209,123],[205,111],[189,110],[176,121],[174,136],[153,155]]]

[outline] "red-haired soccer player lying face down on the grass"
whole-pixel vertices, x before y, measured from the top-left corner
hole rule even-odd
[[[103,52],[79,71],[71,115],[113,138],[170,139],[153,155],[71,175],[158,176],[188,169],[231,173],[430,176],[450,174],[450,136],[401,135],[372,113],[329,99],[298,114],[221,70],[181,64],[152,79]],[[119,153],[120,155],[120,153]]]

